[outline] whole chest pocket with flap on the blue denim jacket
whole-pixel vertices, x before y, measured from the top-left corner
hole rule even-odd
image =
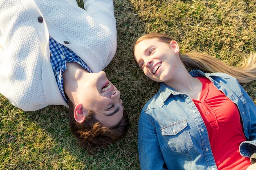
[[[186,119],[175,121],[160,130],[169,148],[174,152],[187,152],[193,147]]]

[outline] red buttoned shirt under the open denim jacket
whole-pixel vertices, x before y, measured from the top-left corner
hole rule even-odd
[[[202,82],[202,91],[200,100],[193,102],[206,125],[218,170],[245,170],[251,163],[239,153],[239,145],[246,139],[236,104],[209,79],[197,78]]]

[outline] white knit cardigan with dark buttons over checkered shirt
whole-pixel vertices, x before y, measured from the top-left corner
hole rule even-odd
[[[76,0],[0,0],[0,93],[11,104],[24,111],[67,106],[49,60],[49,36],[93,72],[110,63],[117,47],[113,2],[84,0],[84,8]]]

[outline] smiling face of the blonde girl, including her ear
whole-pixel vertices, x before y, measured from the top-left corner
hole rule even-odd
[[[135,60],[144,74],[156,82],[169,81],[182,64],[176,41],[170,44],[156,38],[142,40],[135,46]]]

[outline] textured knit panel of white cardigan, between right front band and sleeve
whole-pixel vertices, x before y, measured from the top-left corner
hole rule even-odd
[[[94,20],[88,13],[69,0],[38,0],[50,20],[52,20],[70,43],[85,49],[95,57],[102,69],[115,55],[115,39],[110,29]]]

